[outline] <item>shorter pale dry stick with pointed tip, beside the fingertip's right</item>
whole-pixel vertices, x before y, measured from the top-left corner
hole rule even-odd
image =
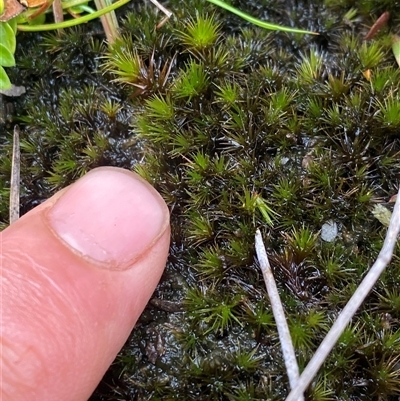
[[[299,367],[297,365],[289,327],[286,322],[285,312],[283,311],[278,288],[276,287],[274,275],[269,264],[260,230],[256,231],[255,244],[258,261],[260,263],[265,286],[267,287],[269,300],[271,302],[272,313],[274,314],[276,327],[278,329],[279,341],[282,347],[283,359],[285,361],[286,371],[289,377],[290,388],[294,388],[299,379]],[[302,399],[302,396],[298,397],[298,401]]]

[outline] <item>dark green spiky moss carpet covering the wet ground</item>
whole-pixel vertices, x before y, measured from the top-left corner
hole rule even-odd
[[[400,10],[363,1],[348,21],[352,3],[327,3],[235,3],[319,38],[263,31],[201,1],[172,1],[176,18],[155,32],[159,17],[138,2],[111,50],[95,33],[70,30],[27,37],[17,51],[14,82],[30,89],[15,116],[25,132],[23,210],[99,165],[135,169],[171,209],[171,256],[155,297],[176,305],[149,306],[92,400],[283,400],[255,229],[301,368],[375,260],[386,229],[371,210],[400,179],[389,36],[399,18],[362,38],[382,12]],[[9,170],[2,158],[0,188]],[[6,202],[0,213],[6,221]],[[329,220],[340,229],[332,243],[319,236]],[[396,252],[308,400],[398,399]]]

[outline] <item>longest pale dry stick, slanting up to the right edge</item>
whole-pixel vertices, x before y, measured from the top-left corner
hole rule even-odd
[[[400,231],[400,189],[397,196],[396,203],[394,205],[394,210],[392,218],[390,219],[389,228],[386,234],[383,247],[379,252],[376,262],[372,265],[370,271],[365,276],[364,280],[361,282],[353,296],[350,298],[347,305],[344,307],[332,328],[329,330],[328,334],[325,336],[314,356],[311,358],[310,362],[301,374],[295,388],[289,393],[286,401],[297,401],[299,397],[304,393],[306,388],[311,383],[314,376],[317,374],[321,365],[325,362],[328,354],[331,352],[332,348],[335,346],[337,340],[343,333],[347,324],[350,322],[351,318],[356,313],[357,309],[360,307],[366,296],[371,291],[372,287],[375,285],[379,276],[383,273],[386,266],[389,264],[393,256],[394,246],[396,245],[397,236]]]

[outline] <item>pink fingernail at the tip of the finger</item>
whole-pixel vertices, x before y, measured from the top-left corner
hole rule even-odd
[[[129,268],[169,224],[158,192],[138,175],[113,167],[92,170],[75,182],[47,219],[74,252],[116,270]]]

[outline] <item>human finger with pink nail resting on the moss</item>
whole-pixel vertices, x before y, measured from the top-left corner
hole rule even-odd
[[[168,208],[100,168],[0,236],[0,399],[87,400],[162,275]]]

